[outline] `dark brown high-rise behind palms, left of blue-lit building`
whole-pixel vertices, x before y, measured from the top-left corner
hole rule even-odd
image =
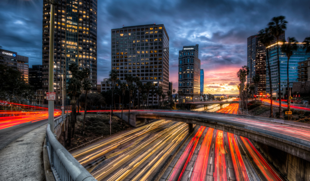
[[[258,84],[258,95],[266,94],[266,47],[258,40],[259,34],[247,38],[247,67],[250,73],[247,76],[247,83],[253,83],[252,78],[255,74],[260,76]],[[279,37],[285,40],[285,32]],[[275,43],[276,38],[272,44]]]

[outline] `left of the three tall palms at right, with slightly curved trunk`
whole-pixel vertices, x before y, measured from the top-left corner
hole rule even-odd
[[[269,28],[265,28],[259,31],[258,40],[261,44],[266,47],[266,61],[267,61],[267,68],[268,68],[268,77],[269,77],[269,87],[270,87],[270,117],[273,118],[272,113],[272,80],[271,80],[271,69],[270,69],[270,62],[268,58],[268,46],[270,46],[271,42],[273,41],[274,36],[271,35]]]

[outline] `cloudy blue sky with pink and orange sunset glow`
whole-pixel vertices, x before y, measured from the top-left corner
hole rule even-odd
[[[281,3],[279,3],[281,2]],[[42,4],[1,0],[0,46],[42,64]],[[246,65],[247,37],[274,16],[286,16],[288,36],[302,42],[310,34],[309,0],[117,1],[98,0],[98,83],[111,70],[111,29],[164,24],[169,36],[169,74],[178,88],[178,53],[199,44],[205,93],[238,94],[236,73]]]

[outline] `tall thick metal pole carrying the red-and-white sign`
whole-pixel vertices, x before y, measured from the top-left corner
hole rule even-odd
[[[50,51],[49,51],[49,73],[48,73],[48,91],[54,92],[54,21],[55,0],[50,1],[51,15],[50,15]],[[51,125],[51,131],[54,133],[54,100],[48,100],[48,123]]]

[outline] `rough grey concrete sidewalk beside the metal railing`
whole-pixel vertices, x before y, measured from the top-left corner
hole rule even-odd
[[[0,151],[0,180],[46,180],[43,165],[46,127],[44,124],[26,133]]]

